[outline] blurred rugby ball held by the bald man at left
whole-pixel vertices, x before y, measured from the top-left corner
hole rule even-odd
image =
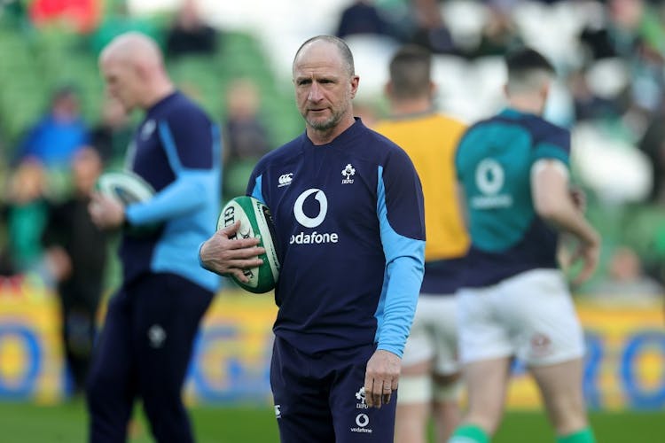
[[[155,190],[139,175],[127,171],[109,171],[99,176],[95,188],[98,192],[115,198],[122,206],[139,203],[153,198]],[[132,226],[128,229],[132,235],[145,235],[160,227],[160,223]]]

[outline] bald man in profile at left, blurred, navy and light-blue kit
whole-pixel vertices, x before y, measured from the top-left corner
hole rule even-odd
[[[127,111],[145,111],[126,166],[156,194],[126,208],[101,194],[90,204],[98,226],[132,228],[123,230],[123,280],[109,301],[90,369],[90,441],[125,441],[140,399],[157,441],[191,442],[181,391],[200,320],[219,284],[200,268],[196,253],[220,211],[219,131],[176,90],[149,37],[115,37],[99,68],[109,94]],[[160,229],[132,234],[154,224]]]

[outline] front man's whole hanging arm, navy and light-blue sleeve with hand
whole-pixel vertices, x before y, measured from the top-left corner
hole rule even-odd
[[[403,347],[425,268],[422,189],[404,152],[379,169],[377,215],[386,255],[387,289],[377,350],[367,362],[364,388],[368,405],[380,408],[397,389]]]

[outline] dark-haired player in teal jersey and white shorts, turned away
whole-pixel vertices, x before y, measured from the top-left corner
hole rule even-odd
[[[516,357],[536,379],[557,442],[590,443],[583,330],[556,250],[559,232],[578,240],[582,282],[597,266],[599,235],[569,189],[570,134],[542,117],[552,65],[528,48],[506,64],[508,107],[469,128],[456,159],[472,244],[458,291],[468,411],[450,442],[488,442],[497,431]]]

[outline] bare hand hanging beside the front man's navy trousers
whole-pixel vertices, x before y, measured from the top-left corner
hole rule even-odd
[[[397,390],[401,359],[388,351],[377,350],[367,361],[364,375],[365,402],[370,408],[387,405]]]

